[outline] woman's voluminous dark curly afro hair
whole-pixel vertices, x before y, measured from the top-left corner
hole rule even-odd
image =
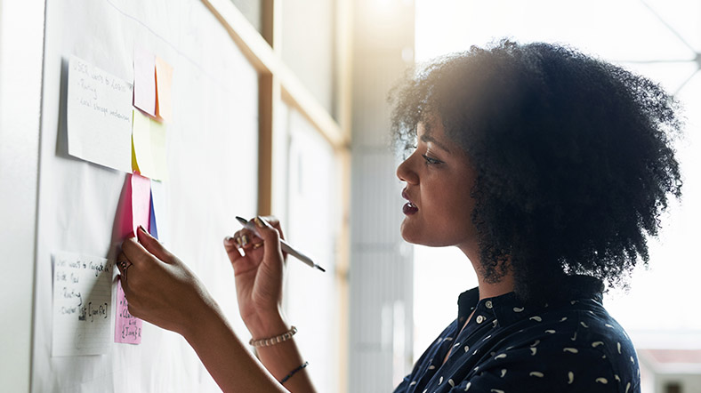
[[[511,269],[523,301],[564,296],[570,275],[625,283],[681,197],[676,101],[567,47],[472,46],[409,71],[390,101],[399,148],[438,118],[471,158],[480,264],[491,282]]]

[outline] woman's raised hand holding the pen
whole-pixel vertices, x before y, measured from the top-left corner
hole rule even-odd
[[[256,217],[254,223],[260,237],[241,229],[224,239],[224,249],[234,268],[238,312],[257,340],[284,333],[289,326],[282,317],[282,229],[274,217]]]

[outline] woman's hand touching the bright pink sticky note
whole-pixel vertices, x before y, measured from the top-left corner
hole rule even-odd
[[[153,325],[188,333],[203,313],[220,312],[197,276],[145,230],[127,238],[117,257],[129,313]]]

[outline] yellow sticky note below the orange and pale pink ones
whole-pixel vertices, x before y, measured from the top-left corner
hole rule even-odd
[[[133,111],[133,170],[150,179],[165,180],[165,124]]]

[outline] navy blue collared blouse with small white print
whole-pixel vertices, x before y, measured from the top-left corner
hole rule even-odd
[[[395,393],[640,392],[635,349],[603,308],[602,283],[570,279],[569,299],[540,308],[514,293],[481,301],[478,288],[462,293],[457,319]]]

